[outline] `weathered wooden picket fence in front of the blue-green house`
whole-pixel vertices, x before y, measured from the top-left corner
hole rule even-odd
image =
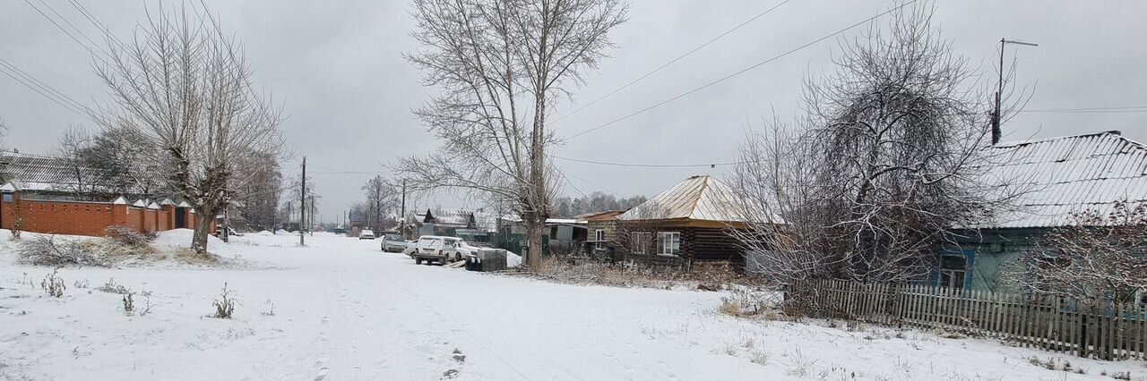
[[[1147,307],[1139,303],[1083,312],[1069,299],[829,279],[788,285],[786,300],[813,317],[955,331],[1089,358],[1147,359]]]

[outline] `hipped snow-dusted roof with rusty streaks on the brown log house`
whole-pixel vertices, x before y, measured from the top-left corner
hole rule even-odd
[[[617,216],[623,221],[702,220],[742,222],[738,217],[736,195],[709,175],[686,178],[649,200]]]

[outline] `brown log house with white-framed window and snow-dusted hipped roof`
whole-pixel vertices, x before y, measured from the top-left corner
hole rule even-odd
[[[736,196],[708,176],[692,176],[617,215],[609,239],[626,260],[692,268],[704,262],[744,264],[731,229],[744,229],[735,216]],[[595,232],[596,235],[596,232]]]

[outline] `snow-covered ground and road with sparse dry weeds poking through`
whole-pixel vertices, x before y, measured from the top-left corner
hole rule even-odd
[[[8,232],[0,231],[2,240]],[[166,243],[166,240],[164,240]],[[0,241],[0,379],[93,380],[716,380],[1147,378],[1139,362],[1094,362],[985,340],[717,312],[721,293],[559,285],[383,253],[377,240],[247,235],[213,243],[221,268],[167,263],[48,268]],[[95,289],[109,279],[136,293]],[[80,284],[77,285],[76,283]],[[87,283],[86,288],[83,283]],[[233,319],[206,317],[227,284]],[[33,287],[34,284],[34,287]],[[1037,356],[1086,374],[1050,371]]]

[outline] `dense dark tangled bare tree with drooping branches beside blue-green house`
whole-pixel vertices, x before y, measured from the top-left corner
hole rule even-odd
[[[806,114],[742,145],[734,188],[751,229],[740,236],[780,281],[919,279],[952,228],[1015,196],[981,175],[990,97],[930,6],[842,45],[835,73],[806,81]]]

